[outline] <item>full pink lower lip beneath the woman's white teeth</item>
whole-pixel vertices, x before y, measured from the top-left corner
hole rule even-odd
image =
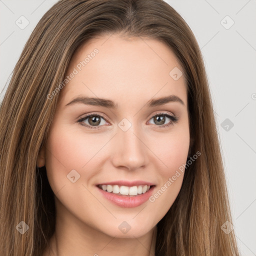
[[[150,189],[145,193],[132,195],[132,196],[109,193],[99,187],[97,188],[99,189],[100,193],[112,203],[120,207],[131,208],[131,207],[137,207],[142,203],[146,202],[150,197],[150,195],[152,194],[154,186],[150,187]]]

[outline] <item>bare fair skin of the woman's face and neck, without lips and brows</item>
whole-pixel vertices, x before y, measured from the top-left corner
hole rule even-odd
[[[39,167],[46,166],[56,207],[51,250],[43,255],[154,255],[156,224],[175,200],[183,174],[154,202],[133,208],[108,201],[95,185],[120,179],[145,180],[155,184],[156,192],[186,162],[189,124],[185,80],[169,75],[173,67],[182,68],[162,42],[139,37],[125,40],[114,34],[81,45],[66,74],[94,48],[99,52],[59,92],[49,136],[37,158]],[[171,94],[184,105],[145,105],[152,98]],[[111,99],[118,107],[65,106],[78,95]],[[161,128],[152,118],[161,111],[178,116],[178,121]],[[90,129],[77,122],[87,113],[107,119],[101,119],[99,129]],[[118,127],[123,118],[131,123],[125,132]],[[91,124],[88,119],[83,123]],[[165,117],[164,124],[170,122]],[[75,183],[67,178],[72,169],[80,175]],[[118,229],[122,221],[131,226],[126,234]]]

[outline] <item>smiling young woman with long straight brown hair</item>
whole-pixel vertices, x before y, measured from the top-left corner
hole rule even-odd
[[[200,50],[164,1],[58,1],[0,127],[2,255],[239,255]]]

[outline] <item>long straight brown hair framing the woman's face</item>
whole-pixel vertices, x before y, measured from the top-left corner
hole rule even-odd
[[[186,78],[190,155],[180,192],[157,224],[155,255],[238,255],[219,138],[200,49],[182,17],[162,0],[60,0],[26,42],[0,105],[0,254],[41,255],[54,232],[54,194],[36,158],[46,141],[75,49],[99,35],[153,38],[174,52]],[[68,86],[68,85],[66,85]],[[24,221],[28,230],[16,226]]]

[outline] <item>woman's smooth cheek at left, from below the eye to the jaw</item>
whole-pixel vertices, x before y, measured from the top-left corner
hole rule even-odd
[[[85,136],[66,125],[51,127],[46,149],[47,178],[58,200],[71,212],[77,209],[74,214],[87,212],[86,207],[98,203],[85,187],[95,174],[96,155],[104,143],[100,138],[95,140],[95,136]],[[90,212],[96,209],[92,208]]]

